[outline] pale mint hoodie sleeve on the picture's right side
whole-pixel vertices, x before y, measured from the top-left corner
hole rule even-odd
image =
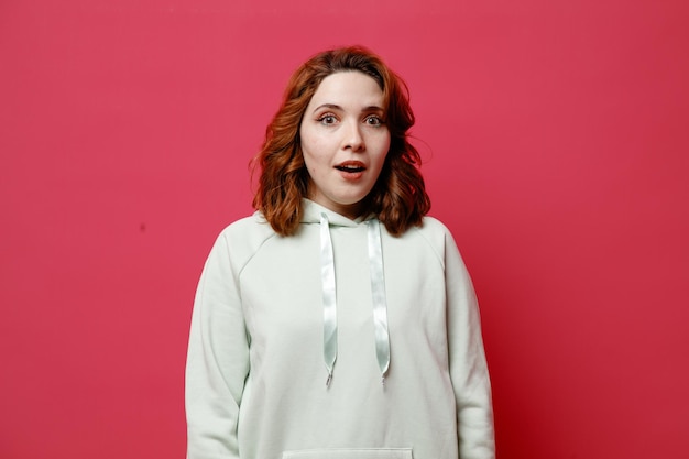
[[[457,401],[459,457],[493,459],[495,445],[491,383],[481,337],[479,306],[471,278],[449,231],[445,239],[448,346]]]

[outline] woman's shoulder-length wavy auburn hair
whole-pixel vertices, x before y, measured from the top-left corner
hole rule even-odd
[[[390,150],[381,174],[364,198],[362,215],[374,214],[391,234],[420,226],[430,209],[420,156],[408,142],[414,125],[408,89],[375,54],[360,46],[326,51],[304,63],[292,75],[277,113],[265,130],[261,152],[253,159],[260,168],[253,207],[275,232],[294,234],[302,218],[302,198],[308,197],[309,175],[302,154],[299,127],[306,107],[320,83],[338,72],[361,72],[383,90],[383,109],[390,130]]]

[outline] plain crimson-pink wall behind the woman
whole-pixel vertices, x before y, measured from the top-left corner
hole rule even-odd
[[[352,43],[411,87],[499,457],[687,457],[688,23],[683,0],[2,0],[0,457],[184,457],[204,260],[288,75]]]

